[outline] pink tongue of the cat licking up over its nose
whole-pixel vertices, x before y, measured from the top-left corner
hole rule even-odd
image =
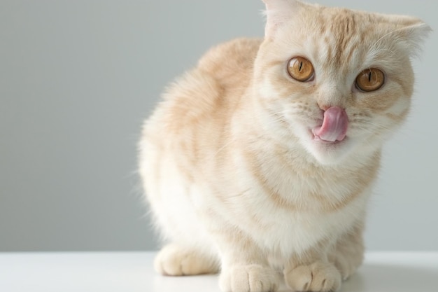
[[[316,139],[327,142],[342,141],[348,128],[348,116],[344,109],[332,106],[324,112],[323,125],[314,127],[312,132]]]

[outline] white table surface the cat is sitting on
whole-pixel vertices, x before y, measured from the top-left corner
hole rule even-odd
[[[219,292],[218,276],[162,277],[152,252],[0,253],[4,292]],[[369,252],[341,291],[438,292],[438,251]],[[288,291],[281,288],[281,291]]]

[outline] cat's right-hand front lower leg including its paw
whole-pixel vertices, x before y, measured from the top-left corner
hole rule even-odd
[[[327,258],[326,249],[318,246],[303,255],[292,256],[285,263],[284,277],[292,291],[328,292],[341,286],[341,273]]]

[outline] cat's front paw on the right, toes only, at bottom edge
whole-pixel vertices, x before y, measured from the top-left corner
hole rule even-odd
[[[285,271],[284,276],[286,284],[293,291],[328,292],[337,291],[341,286],[341,274],[330,263],[299,265]]]

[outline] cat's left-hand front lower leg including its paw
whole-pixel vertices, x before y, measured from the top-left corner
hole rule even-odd
[[[267,262],[266,255],[247,236],[230,235],[220,241],[222,270],[219,286],[223,292],[274,292],[278,273]]]

